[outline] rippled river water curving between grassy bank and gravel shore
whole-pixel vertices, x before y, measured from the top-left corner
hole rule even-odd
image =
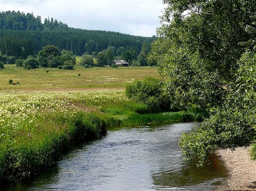
[[[198,123],[123,127],[76,146],[51,170],[28,184],[10,186],[21,191],[210,191],[227,176],[217,157],[213,165],[196,167],[183,161],[178,146],[183,132]]]

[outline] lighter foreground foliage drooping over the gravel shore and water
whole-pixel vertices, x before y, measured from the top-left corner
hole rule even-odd
[[[236,80],[230,84],[223,104],[213,108],[199,128],[183,134],[180,145],[186,160],[197,157],[199,165],[203,165],[210,162],[209,156],[215,149],[235,150],[237,146],[249,146],[255,138],[256,48],[245,52],[238,64]],[[196,155],[191,155],[191,151]]]

